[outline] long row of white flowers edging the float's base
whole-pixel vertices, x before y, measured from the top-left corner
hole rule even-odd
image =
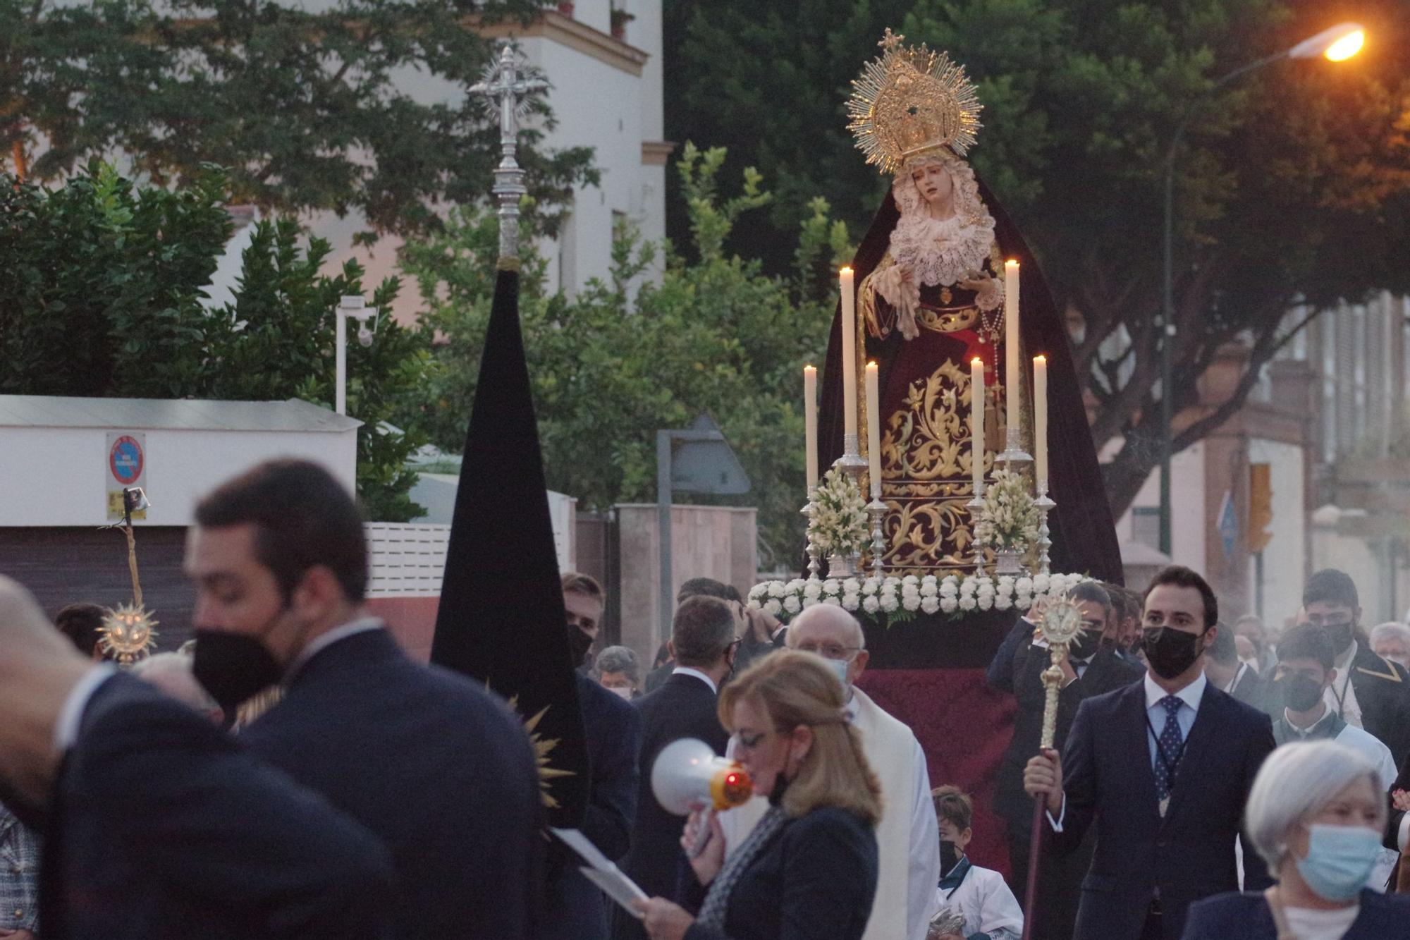
[[[832,604],[877,621],[881,614],[890,622],[911,620],[916,613],[943,613],[950,618],[976,610],[1026,611],[1039,597],[1056,598],[1084,574],[1036,574],[1034,577],[990,577],[974,574],[926,574],[916,577],[829,577],[794,579],[791,582],[763,582],[749,591],[749,605],[763,610],[784,622],[814,604]]]

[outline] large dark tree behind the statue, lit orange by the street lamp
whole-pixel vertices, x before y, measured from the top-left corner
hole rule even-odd
[[[1176,449],[1239,408],[1314,309],[1410,288],[1410,41],[1402,0],[712,0],[671,4],[667,134],[728,144],[777,188],[750,233],[781,270],[778,234],[823,193],[862,224],[883,193],[846,131],[847,82],[883,28],[950,51],[984,103],[973,151],[1080,326],[1079,373],[1124,510],[1159,457],[1165,154],[1176,161]],[[1283,61],[1220,78],[1340,21],[1368,27],[1351,62]],[[677,231],[677,229],[673,229]],[[739,244],[743,244],[740,241]],[[1234,395],[1201,402],[1220,349],[1246,347]]]

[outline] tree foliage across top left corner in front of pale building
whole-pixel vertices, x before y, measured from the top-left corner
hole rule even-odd
[[[234,202],[436,227],[431,203],[479,198],[499,158],[498,113],[464,93],[494,54],[477,27],[539,6],[0,0],[0,144],[38,152],[45,181],[117,150],[157,182],[228,167]],[[533,110],[519,161],[558,206],[596,174],[588,148],[536,150],[551,114],[541,96]]]

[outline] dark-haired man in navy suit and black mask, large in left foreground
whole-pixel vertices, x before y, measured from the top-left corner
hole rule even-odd
[[[543,899],[533,748],[499,700],[412,662],[367,615],[352,497],[312,463],[255,467],[197,505],[186,570],[196,677],[226,709],[283,683],[243,738],[386,844],[396,936],[527,936]]]

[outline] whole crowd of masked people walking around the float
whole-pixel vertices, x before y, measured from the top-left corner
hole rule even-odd
[[[581,831],[644,892],[626,908],[544,838],[522,720],[367,614],[367,562],[351,495],[278,462],[200,502],[179,651],[116,669],[102,608],[49,622],[0,580],[0,937],[1410,937],[1410,631],[1363,631],[1341,572],[1277,634],[1222,627],[1183,567],[1074,586],[1052,749],[1043,611],[1017,618],[987,673],[1015,707],[1007,858],[967,854],[974,797],[860,687],[847,611],[784,625],[691,579],[647,670],[564,574]],[[666,810],[651,769],[681,738],[753,799]]]

